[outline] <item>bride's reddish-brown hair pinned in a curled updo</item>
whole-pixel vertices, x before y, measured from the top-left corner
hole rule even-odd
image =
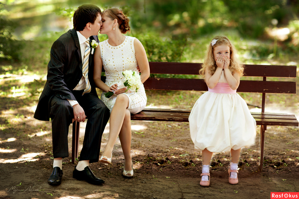
[[[118,8],[109,8],[106,9],[102,12],[102,15],[106,14],[109,18],[112,20],[117,19],[117,23],[119,25],[119,29],[121,33],[126,34],[126,32],[131,32],[130,31],[130,26],[129,26],[129,18],[123,14],[123,11],[118,9]]]

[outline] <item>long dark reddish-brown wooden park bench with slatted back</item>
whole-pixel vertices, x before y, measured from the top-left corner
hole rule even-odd
[[[149,62],[150,72],[155,74],[184,74],[199,75],[201,64],[196,63],[171,63]],[[298,127],[298,120],[294,114],[265,112],[266,93],[296,94],[295,81],[266,81],[267,77],[296,78],[296,66],[274,65],[245,65],[244,76],[263,77],[263,81],[241,80],[237,92],[262,93],[262,112],[251,112],[252,116],[261,125],[260,139],[260,169],[263,168],[265,131],[268,126],[293,126]],[[105,77],[102,76],[105,81]],[[144,83],[148,90],[194,90],[208,91],[203,79],[183,78],[148,78]],[[194,101],[195,103],[195,101]],[[184,109],[148,109],[132,114],[132,120],[147,121],[177,121],[188,122],[191,110]],[[72,162],[78,155],[79,126],[73,124]],[[191,139],[191,138],[190,138]]]

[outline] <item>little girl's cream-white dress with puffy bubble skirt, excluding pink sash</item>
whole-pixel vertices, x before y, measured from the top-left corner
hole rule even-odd
[[[218,83],[227,83],[224,71]],[[255,142],[256,121],[237,93],[205,92],[192,108],[189,125],[195,149],[229,152]]]

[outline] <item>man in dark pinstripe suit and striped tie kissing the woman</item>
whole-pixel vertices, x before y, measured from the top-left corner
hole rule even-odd
[[[97,178],[89,163],[99,161],[102,134],[109,120],[109,109],[98,98],[93,81],[91,40],[98,40],[102,25],[101,10],[91,4],[74,12],[74,29],[64,33],[51,48],[47,82],[39,98],[34,118],[52,122],[53,170],[50,185],[62,178],[62,158],[68,157],[68,127],[72,121],[84,122],[88,117],[80,160],[73,178],[93,184]]]

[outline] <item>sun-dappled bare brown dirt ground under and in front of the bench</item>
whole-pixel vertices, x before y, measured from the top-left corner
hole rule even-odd
[[[13,114],[9,111],[6,114]],[[260,129],[256,144],[242,149],[239,183],[228,183],[230,154],[214,154],[211,183],[199,186],[201,153],[193,148],[189,124],[181,122],[132,121],[132,158],[134,176],[123,177],[123,154],[119,140],[113,150],[112,165],[92,163],[91,170],[106,181],[92,185],[72,178],[71,157],[63,159],[63,178],[59,186],[47,183],[52,169],[51,123],[37,121],[26,109],[19,125],[40,127],[40,132],[15,136],[1,131],[0,198],[270,198],[270,192],[299,192],[299,128],[267,127],[264,169],[258,171]],[[4,114],[5,116],[5,114]],[[0,124],[4,124],[1,117]],[[85,123],[80,127],[82,147]],[[71,130],[72,125],[70,126]],[[14,127],[11,127],[14,128]],[[17,127],[15,127],[17,128]],[[70,131],[71,132],[71,131]],[[101,151],[109,135],[107,124]],[[69,133],[71,155],[71,133]]]

